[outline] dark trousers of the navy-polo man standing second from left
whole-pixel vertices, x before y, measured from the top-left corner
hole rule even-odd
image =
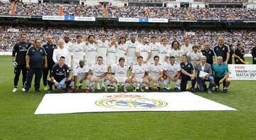
[[[35,74],[35,90],[40,88],[40,80],[42,77],[43,68],[30,68],[27,74],[26,80],[26,89],[28,90],[31,87],[31,82],[33,79],[33,75]]]

